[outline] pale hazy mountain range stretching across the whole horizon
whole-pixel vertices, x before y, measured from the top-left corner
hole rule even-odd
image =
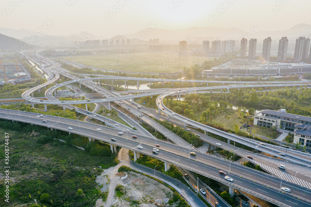
[[[124,35],[117,35],[112,38],[107,37],[99,37],[88,32],[82,31],[79,34],[71,34],[67,36],[56,36],[56,35],[43,35],[43,36],[35,36],[35,31],[27,30],[27,29],[8,29],[8,28],[0,28],[0,34],[7,35],[9,37],[13,37],[19,39],[21,41],[26,42],[30,40],[32,36],[35,36],[36,40],[33,44],[39,46],[46,46],[46,45],[57,45],[57,46],[66,46],[66,42],[69,43],[70,41],[81,41],[82,39],[108,39],[111,41],[112,39],[114,42],[117,39],[139,39],[140,42],[148,43],[149,39],[160,39],[160,44],[162,43],[175,43],[177,41],[183,40],[186,37],[202,37],[203,39],[212,37],[215,39],[235,39],[240,40],[243,37],[250,38],[257,38],[257,42],[261,42],[261,40],[271,37],[272,40],[278,41],[281,37],[287,37],[288,39],[296,39],[300,36],[310,37],[311,38],[311,25],[308,24],[298,24],[290,29],[287,30],[272,30],[272,31],[264,31],[260,30],[260,28],[253,27],[250,28],[248,31],[244,31],[238,28],[217,28],[217,27],[189,27],[185,29],[178,29],[178,30],[165,30],[165,29],[152,29],[146,37],[142,39],[142,32],[145,30],[140,30],[134,34],[124,34]],[[248,35],[249,34],[249,35]],[[248,36],[247,36],[248,35]],[[202,39],[201,38],[201,39]],[[212,39],[211,38],[211,39]],[[63,44],[65,42],[65,44]],[[4,44],[4,43],[2,43]]]

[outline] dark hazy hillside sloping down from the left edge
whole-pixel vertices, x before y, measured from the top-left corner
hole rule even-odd
[[[27,47],[27,44],[25,46],[25,42],[22,42],[18,39],[15,39],[13,37],[9,37],[4,34],[0,34],[0,49],[3,51],[5,50],[21,50],[23,48]],[[29,46],[29,45],[28,45]],[[38,48],[36,45],[30,45],[29,49],[35,49]],[[28,48],[26,48],[28,49]]]

